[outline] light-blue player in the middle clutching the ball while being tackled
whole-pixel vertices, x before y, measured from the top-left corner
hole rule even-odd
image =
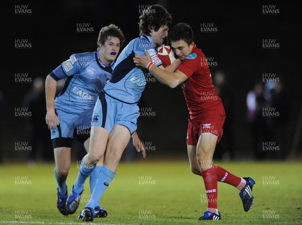
[[[106,150],[97,184],[88,204],[79,215],[79,219],[82,218],[83,221],[93,221],[96,203],[114,178],[121,155],[136,130],[139,116],[137,102],[144,90],[144,74],[148,70],[135,66],[134,55],[145,55],[144,50],[147,50],[153,63],[164,69],[155,47],[163,44],[168,37],[172,17],[162,6],[153,5],[144,10],[139,19],[140,37],[130,41],[121,52],[111,80],[105,85],[95,105],[89,153],[82,160],[77,181],[66,202],[66,208],[74,203],[83,191],[85,180],[94,171],[97,162],[104,157]],[[176,60],[166,69],[174,71],[179,64],[180,60]]]

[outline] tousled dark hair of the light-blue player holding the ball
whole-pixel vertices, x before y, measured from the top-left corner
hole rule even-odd
[[[172,16],[161,5],[153,5],[142,12],[139,17],[139,35],[149,34],[150,29],[158,31],[162,26],[172,25]]]

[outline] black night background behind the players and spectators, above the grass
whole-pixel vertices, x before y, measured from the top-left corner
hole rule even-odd
[[[279,1],[15,1],[5,9],[4,15],[7,16],[1,21],[7,31],[2,35],[4,74],[0,84],[4,95],[0,136],[3,161],[27,159],[27,153],[15,151],[15,142],[29,140],[28,119],[16,118],[15,107],[21,107],[32,83],[16,83],[15,73],[28,73],[33,79],[38,76],[45,79],[71,54],[96,51],[100,29],[111,23],[120,27],[126,37],[122,50],[130,40],[138,37],[139,6],[153,4],[163,5],[172,14],[174,24],[190,24],[197,47],[217,62],[216,67],[210,67],[211,74],[218,70],[226,74],[234,96],[233,159],[255,157],[247,122],[248,91],[253,89],[256,80],[262,79],[262,73],[276,73],[280,77],[286,93],[286,118],[285,114],[280,115],[286,120],[282,137],[286,144],[282,151],[289,155],[302,102],[302,18],[297,4],[281,4]],[[32,13],[15,15],[15,5],[28,5]],[[263,15],[263,5],[275,5],[279,15]],[[77,33],[77,23],[90,23],[94,32]],[[201,33],[201,23],[213,23],[217,32]],[[15,39],[28,39],[32,48],[15,49]],[[263,49],[262,39],[276,39],[279,49]],[[149,157],[186,157],[188,111],[181,88],[170,89],[158,82],[147,84],[139,105],[152,107],[156,115],[138,120],[140,139],[152,142],[156,148],[156,151],[148,153]],[[41,108],[46,114],[45,106],[41,105]],[[41,124],[44,123],[41,119]],[[274,137],[271,141],[276,139]],[[301,143],[297,153],[301,153]]]

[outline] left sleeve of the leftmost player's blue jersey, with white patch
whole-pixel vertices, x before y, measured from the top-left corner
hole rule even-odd
[[[77,57],[75,54],[71,55],[68,60],[63,62],[57,68],[55,68],[49,75],[56,81],[66,78],[68,76],[73,76],[80,71],[80,65],[78,65]]]

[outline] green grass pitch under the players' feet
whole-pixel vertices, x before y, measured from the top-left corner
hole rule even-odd
[[[197,221],[206,210],[202,178],[190,172],[187,161],[121,163],[101,199],[106,218],[92,224],[302,224],[299,162],[231,162],[218,165],[257,184],[255,203],[245,212],[239,190],[218,183],[220,221]],[[86,182],[82,203],[73,215],[56,208],[54,164],[31,168],[26,164],[0,165],[0,224],[90,224],[78,220],[89,199]],[[68,193],[78,173],[73,164]]]

